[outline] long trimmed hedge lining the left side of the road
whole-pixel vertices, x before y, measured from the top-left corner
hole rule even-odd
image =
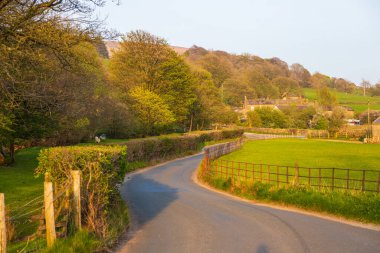
[[[59,187],[71,179],[71,170],[81,170],[82,223],[90,232],[107,239],[112,233],[111,216],[122,204],[118,186],[127,169],[130,169],[128,163],[183,156],[199,151],[206,141],[238,138],[243,133],[243,130],[223,130],[175,137],[136,139],[121,146],[69,146],[43,149],[38,157],[36,175],[48,172],[51,180]]]

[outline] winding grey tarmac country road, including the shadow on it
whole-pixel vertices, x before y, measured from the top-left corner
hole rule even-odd
[[[380,252],[380,232],[251,204],[192,180],[203,155],[131,174],[131,213],[116,252]]]

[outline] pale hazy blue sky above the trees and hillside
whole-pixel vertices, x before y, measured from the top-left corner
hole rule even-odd
[[[380,0],[120,0],[99,11],[119,32],[171,45],[301,63],[356,83],[380,81]]]

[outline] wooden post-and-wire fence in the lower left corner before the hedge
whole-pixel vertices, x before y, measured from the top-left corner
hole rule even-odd
[[[63,184],[53,184],[49,174],[45,174],[44,195],[9,210],[7,214],[4,194],[0,193],[0,253],[6,253],[7,241],[29,241],[44,234],[48,247],[52,246],[57,237],[67,235],[72,214],[75,228],[81,229],[80,184],[80,171],[72,171]],[[37,230],[30,234],[31,227],[35,227],[38,221]],[[11,238],[16,233],[17,238]]]

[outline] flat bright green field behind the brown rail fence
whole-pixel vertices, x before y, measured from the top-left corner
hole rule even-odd
[[[374,182],[366,182],[364,189],[376,191],[380,177],[379,154],[380,145],[299,139],[248,141],[241,150],[214,161],[213,171],[222,177],[234,175],[237,179],[288,184],[294,180],[298,167],[301,184],[362,189],[362,170],[367,170],[365,180]]]

